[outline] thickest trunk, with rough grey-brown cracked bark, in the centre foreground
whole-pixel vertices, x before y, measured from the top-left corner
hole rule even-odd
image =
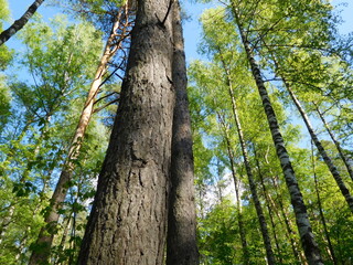
[[[139,0],[127,73],[78,264],[160,265],[174,93],[168,0]]]

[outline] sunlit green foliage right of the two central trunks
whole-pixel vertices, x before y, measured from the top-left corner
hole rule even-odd
[[[288,117],[288,113],[293,110],[289,95],[279,82],[279,77],[281,77],[281,73],[286,73],[287,81],[290,81],[290,84],[300,93],[300,99],[308,112],[314,110],[312,105],[310,106],[310,102],[320,102],[320,104],[323,104],[322,106],[325,106],[324,109],[328,109],[325,110],[328,116],[331,115],[332,123],[335,123],[335,118],[332,115],[335,112],[340,113],[342,119],[350,118],[350,114],[342,115],[343,109],[346,108],[341,107],[340,102],[344,102],[345,105],[351,104],[351,99],[346,97],[350,93],[344,94],[350,89],[346,85],[351,83],[349,81],[351,75],[347,63],[336,53],[330,52],[330,41],[336,38],[335,18],[331,14],[332,7],[319,1],[310,3],[309,1],[299,1],[296,3],[298,4],[297,7],[281,1],[232,1],[227,8],[205,11],[201,19],[204,35],[200,51],[211,62],[196,61],[191,63],[189,68],[192,82],[190,87],[191,102],[197,102],[196,106],[191,105],[192,113],[195,112],[193,119],[197,120],[199,125],[194,134],[197,139],[203,139],[196,141],[196,148],[200,148],[199,145],[201,145],[213,153],[213,158],[208,160],[208,169],[211,169],[207,178],[214,181],[199,181],[203,176],[196,174],[196,183],[199,186],[202,184],[202,189],[206,191],[199,200],[204,203],[207,198],[212,197],[210,194],[212,193],[210,186],[220,187],[216,184],[220,180],[217,171],[221,170],[226,174],[231,170],[231,165],[227,162],[226,138],[231,140],[233,153],[235,155],[234,162],[237,165],[237,173],[244,174],[228,94],[232,85],[235,100],[239,108],[239,118],[244,124],[244,135],[250,149],[253,169],[257,168],[258,174],[263,176],[261,181],[260,179],[256,180],[257,189],[261,191],[261,203],[268,210],[266,219],[267,223],[271,225],[272,247],[279,264],[301,264],[303,262],[302,257],[300,257],[302,254],[298,248],[299,237],[291,221],[293,220],[293,212],[288,200],[288,191],[279,177],[281,169],[271,145],[267,123],[265,123],[266,118],[255,93],[254,80],[248,72],[247,59],[240,45],[232,9],[240,10],[239,21],[243,28],[246,29],[247,40],[249,40],[259,65],[265,70],[266,76],[264,78],[267,80],[267,87],[270,91],[271,102],[275,105],[286,144],[291,153],[299,184],[303,187],[304,200],[309,203],[309,213],[313,222],[317,240],[320,248],[325,250],[328,248],[327,236],[330,236],[335,242],[335,236],[331,233],[335,226],[334,216],[347,214],[344,206],[344,198],[338,193],[338,188],[332,177],[330,178],[328,168],[320,161],[320,167],[317,166],[317,171],[320,169],[320,172],[322,172],[319,179],[321,186],[324,186],[325,189],[320,190],[323,204],[318,204],[318,199],[313,195],[315,194],[313,174],[310,173],[313,167],[310,163],[310,149],[298,147],[298,142],[300,142],[300,146],[304,145],[306,138],[303,138],[304,135],[301,129],[298,126],[293,126],[293,121],[297,123],[298,118],[292,114]],[[290,7],[284,7],[282,4]],[[222,127],[226,129],[222,129]],[[339,131],[340,129],[335,132]],[[352,130],[349,129],[349,131]],[[335,165],[344,172],[345,169],[334,147],[330,148],[330,155],[335,158]],[[222,162],[213,163],[212,161]],[[200,165],[195,165],[197,172]],[[207,167],[202,165],[202,168]],[[319,172],[317,174],[319,176]],[[261,258],[265,258],[264,243],[259,241],[258,232],[254,233],[259,227],[256,222],[254,205],[249,200],[250,194],[247,183],[243,178],[237,178],[237,181],[240,181],[245,187],[242,192],[243,209],[249,210],[244,210],[246,211],[244,214],[249,214],[247,220],[253,221],[252,225],[248,222],[247,227],[244,227],[248,241],[247,254],[254,264],[259,264]],[[217,190],[217,188],[214,190]],[[218,194],[220,192],[216,191],[214,197],[220,198]],[[335,200],[335,205],[341,206],[333,209],[332,204],[331,206],[325,204],[328,201],[332,203],[329,198]],[[231,225],[227,221],[228,218],[232,216],[236,220],[236,213],[234,212],[222,212],[220,214],[220,209],[224,209],[222,203],[224,201],[221,200],[216,206],[210,206],[208,211],[200,213],[200,231],[202,231],[200,233],[200,247],[204,264],[217,262],[220,264],[238,264],[242,261],[242,255],[239,254],[233,256],[235,258],[233,261],[223,259],[223,262],[220,262],[217,259],[217,247],[222,246],[223,250],[227,250],[226,245],[229,244],[229,239],[222,234],[222,221],[224,220],[227,225]],[[233,210],[236,209],[235,203],[231,203],[229,206],[233,206]],[[322,233],[323,221],[319,216],[320,208],[323,208],[325,213],[324,221],[329,227],[328,235]],[[223,216],[223,220],[220,216],[214,221],[217,214]],[[227,227],[232,231],[231,226]],[[232,227],[239,229],[238,224],[234,222]],[[238,234],[239,231],[237,232]],[[288,241],[289,237],[292,237],[292,240]],[[232,240],[232,246],[239,247],[238,251],[242,252],[240,239],[233,236]],[[347,247],[349,245],[350,243],[347,243]],[[345,255],[335,243],[333,247],[336,255]],[[327,253],[323,254],[324,259],[328,261],[328,264],[331,264],[332,256]],[[223,253],[220,256],[226,258],[228,254]],[[344,256],[340,261],[344,264],[343,261],[349,258],[349,256]]]

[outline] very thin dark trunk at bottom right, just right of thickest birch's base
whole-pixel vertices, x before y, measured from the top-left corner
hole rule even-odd
[[[311,141],[311,159],[312,159],[313,180],[314,180],[314,183],[315,183],[315,192],[317,192],[317,198],[318,198],[318,206],[319,206],[320,219],[321,219],[321,223],[322,223],[322,226],[323,226],[324,236],[325,236],[325,239],[328,241],[330,257],[331,257],[333,264],[336,265],[338,261],[335,258],[335,254],[334,254],[333,246],[332,246],[332,243],[331,243],[331,239],[330,239],[327,221],[324,219],[323,210],[322,210],[322,203],[321,203],[320,191],[319,191],[319,182],[318,182],[318,176],[317,176],[317,170],[315,170],[315,159],[314,159],[314,155],[313,155],[312,141]]]

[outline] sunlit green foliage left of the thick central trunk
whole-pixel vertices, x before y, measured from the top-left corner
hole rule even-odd
[[[13,75],[9,86],[1,89],[8,100],[8,105],[1,105],[8,112],[1,116],[1,264],[25,263],[31,250],[38,247],[33,242],[43,225],[49,198],[101,53],[99,32],[88,22],[72,24],[63,17],[50,24],[38,19],[28,24],[20,38],[26,49],[18,56],[18,63],[30,74],[25,76],[33,80]],[[74,258],[79,247],[87,201],[92,200],[107,141],[108,129],[97,118],[93,118],[87,141],[75,161],[77,170],[67,187],[71,198],[65,201],[63,219],[55,227],[58,239],[71,220],[68,230],[77,232],[66,232],[63,248],[53,252],[53,261]]]

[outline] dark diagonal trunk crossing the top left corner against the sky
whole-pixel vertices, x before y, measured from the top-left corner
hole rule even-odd
[[[25,11],[25,13],[19,19],[13,22],[12,25],[10,25],[9,29],[2,31],[0,33],[0,46],[6,43],[12,35],[14,35],[18,31],[20,31],[26,22],[32,18],[32,15],[35,13],[38,8],[44,2],[44,0],[35,0],[29,9]]]

